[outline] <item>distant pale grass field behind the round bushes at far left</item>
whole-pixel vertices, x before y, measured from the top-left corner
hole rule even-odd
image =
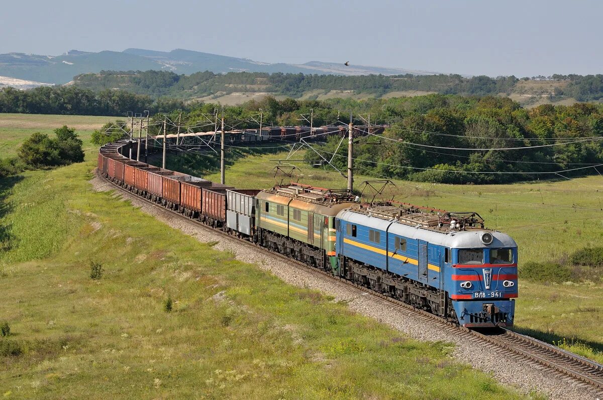
[[[102,127],[115,117],[75,116],[75,115],[38,115],[38,114],[2,114],[0,113],[0,158],[13,157],[19,145],[34,132],[52,134],[56,128],[67,125],[75,128],[84,148],[90,148],[92,131]]]

